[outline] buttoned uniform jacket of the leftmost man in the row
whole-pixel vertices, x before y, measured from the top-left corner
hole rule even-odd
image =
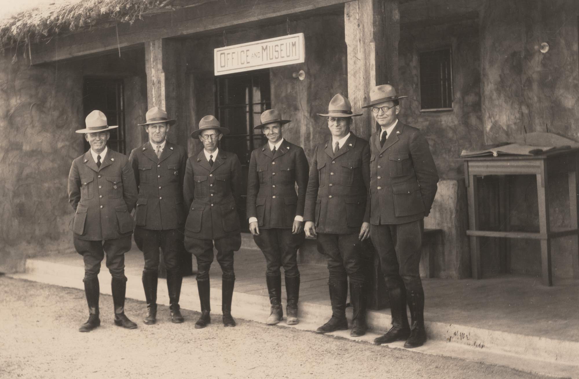
[[[76,211],[71,225],[76,238],[105,240],[130,235],[137,185],[127,156],[109,148],[100,168],[90,150],[72,161],[68,202]]]

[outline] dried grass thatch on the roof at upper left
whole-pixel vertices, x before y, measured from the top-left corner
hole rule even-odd
[[[133,23],[164,0],[40,0],[34,7],[0,20],[0,46],[39,42],[84,30],[102,21]]]

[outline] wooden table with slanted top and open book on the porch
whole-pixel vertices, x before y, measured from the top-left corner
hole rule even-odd
[[[541,241],[541,273],[543,284],[552,286],[551,239],[571,236],[573,239],[573,277],[579,278],[579,235],[577,228],[577,171],[579,148],[546,152],[541,155],[485,156],[461,158],[467,185],[468,219],[467,235],[470,237],[472,277],[481,278],[481,237],[528,238]],[[570,229],[554,231],[549,225],[548,177],[549,174],[567,174],[569,184]],[[539,232],[484,231],[480,229],[478,214],[477,176],[485,175],[536,175],[539,210]]]

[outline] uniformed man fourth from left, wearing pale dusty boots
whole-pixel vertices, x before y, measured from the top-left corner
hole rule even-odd
[[[265,256],[265,278],[272,305],[267,325],[283,318],[281,273],[284,267],[288,325],[298,323],[299,271],[297,253],[303,243],[303,205],[309,166],[303,149],[281,136],[279,111],[261,114],[261,129],[268,142],[251,152],[247,179],[247,217],[255,243]],[[295,185],[298,185],[296,195]]]

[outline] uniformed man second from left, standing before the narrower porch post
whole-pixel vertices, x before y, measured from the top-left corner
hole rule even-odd
[[[157,278],[159,275],[159,249],[167,269],[167,289],[171,321],[184,321],[179,310],[182,274],[179,263],[183,246],[185,206],[183,203],[183,177],[187,152],[181,145],[167,141],[167,133],[174,119],[167,112],[154,107],[146,112],[145,127],[149,141],[131,151],[129,161],[133,166],[139,196],[135,209],[135,243],[145,258],[142,272],[147,315],[145,324],[157,319]]]

